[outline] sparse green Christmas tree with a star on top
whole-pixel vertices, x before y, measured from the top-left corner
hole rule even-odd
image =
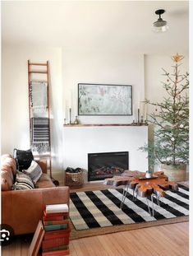
[[[154,124],[154,142],[140,147],[148,151],[149,165],[156,161],[166,165],[179,165],[189,160],[189,74],[181,74],[182,55],[172,56],[173,72],[163,69],[166,81],[163,89],[168,97],[162,102],[145,100],[145,104],[154,105],[154,113],[149,114],[149,123]]]

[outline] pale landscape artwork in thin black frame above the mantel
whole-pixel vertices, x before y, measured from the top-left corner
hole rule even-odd
[[[78,84],[79,115],[132,115],[132,86]]]

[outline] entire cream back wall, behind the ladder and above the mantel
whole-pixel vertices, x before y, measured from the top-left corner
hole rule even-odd
[[[174,53],[175,54],[175,53]],[[2,45],[2,153],[14,147],[30,147],[27,59],[50,63],[51,142],[53,177],[63,180],[63,118],[67,104],[72,103],[73,119],[77,111],[79,82],[128,84],[133,86],[133,102],[161,100],[162,70],[172,61],[166,55],[143,55],[45,49],[18,45]],[[188,58],[182,70],[188,70]],[[150,111],[150,109],[149,109]],[[81,117],[82,123],[131,123],[132,117]]]

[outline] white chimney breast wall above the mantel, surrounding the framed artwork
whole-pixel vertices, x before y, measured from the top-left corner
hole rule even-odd
[[[63,51],[63,109],[69,122],[72,96],[73,120],[77,114],[78,83],[131,85],[135,109],[144,100],[144,56],[114,52]],[[132,116],[80,117],[81,123],[131,123]]]

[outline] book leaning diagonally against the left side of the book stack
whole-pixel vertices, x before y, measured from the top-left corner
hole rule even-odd
[[[39,248],[44,238],[45,230],[42,221],[39,221],[34,232],[33,239],[30,244],[29,256],[36,256],[39,253]]]

